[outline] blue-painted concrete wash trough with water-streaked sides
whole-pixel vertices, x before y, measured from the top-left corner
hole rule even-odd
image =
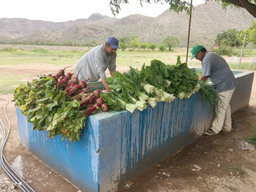
[[[201,68],[191,68],[199,72]],[[238,81],[232,112],[249,104],[254,72],[233,71]],[[98,112],[89,117],[80,142],[54,139],[32,130],[17,109],[20,142],[81,191],[116,191],[161,158],[192,142],[211,127],[214,115],[199,93],[160,102],[130,114]]]

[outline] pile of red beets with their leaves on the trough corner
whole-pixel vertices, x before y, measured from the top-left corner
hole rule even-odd
[[[62,134],[71,142],[80,140],[88,117],[109,106],[99,98],[100,90],[89,93],[86,81],[64,69],[56,74],[40,75],[14,91],[15,107],[33,124],[32,129],[46,130],[50,138]]]

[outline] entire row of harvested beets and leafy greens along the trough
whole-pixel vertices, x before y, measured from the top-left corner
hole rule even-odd
[[[123,74],[115,72],[115,77],[107,78],[110,92],[90,91],[86,81],[79,80],[78,74],[65,73],[65,69],[40,75],[14,91],[15,107],[20,107],[28,117],[33,130],[46,130],[50,138],[61,134],[66,141],[68,138],[71,142],[80,141],[88,117],[109,108],[131,113],[136,109],[143,111],[147,106],[154,108],[157,102],[189,98],[199,89],[202,101],[211,108],[215,108],[220,99],[218,91],[199,81],[198,75],[180,62],[180,56],[175,65],[151,60],[150,66],[142,65],[141,71],[130,67]]]

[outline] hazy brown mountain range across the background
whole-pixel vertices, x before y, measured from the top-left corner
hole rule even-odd
[[[240,10],[222,6],[215,1],[194,7],[190,23],[190,45],[211,46],[223,30],[245,30],[255,19],[244,8]],[[0,18],[0,40],[6,41],[75,41],[106,42],[110,36],[122,38],[136,35],[141,42],[162,43],[164,38],[175,36],[180,46],[188,41],[189,16],[186,12],[164,11],[157,17],[140,14],[117,19],[101,14],[92,14],[88,19],[52,22],[23,18]]]

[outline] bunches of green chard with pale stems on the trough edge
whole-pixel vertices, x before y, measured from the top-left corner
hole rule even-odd
[[[200,87],[198,75],[192,72],[186,63],[177,57],[175,65],[167,65],[160,60],[151,60],[150,66],[143,64],[141,71],[130,67],[115,77],[107,78],[110,93],[101,93],[101,97],[115,111],[133,112],[145,110],[147,104],[157,106],[157,102],[172,102],[176,97],[189,98]]]

